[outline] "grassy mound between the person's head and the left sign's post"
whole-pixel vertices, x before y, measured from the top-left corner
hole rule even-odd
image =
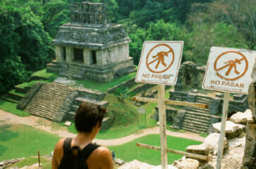
[[[98,133],[96,138],[100,139],[111,139],[121,138],[131,133],[137,132],[142,126],[137,123],[137,106],[132,104],[131,99],[119,99],[118,96],[109,94],[105,100],[108,100],[108,116],[115,116],[113,126],[106,131]],[[151,118],[154,115],[154,106],[156,104],[148,103],[142,107],[146,110],[146,126],[143,127],[155,127],[156,121]],[[144,119],[144,117],[143,117]],[[143,119],[140,119],[142,121]],[[76,133],[74,125],[68,128],[69,132]]]

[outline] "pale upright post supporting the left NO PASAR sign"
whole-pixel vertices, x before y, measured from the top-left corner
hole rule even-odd
[[[158,107],[160,122],[161,166],[167,169],[166,103],[165,86],[158,85]]]

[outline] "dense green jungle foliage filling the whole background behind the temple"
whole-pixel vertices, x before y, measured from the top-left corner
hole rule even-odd
[[[70,3],[82,1],[0,1],[0,93],[55,57],[51,41],[69,21]],[[254,0],[90,1],[105,3],[108,21],[125,26],[136,65],[144,41],[184,41],[183,61],[199,65],[212,46],[256,49]]]

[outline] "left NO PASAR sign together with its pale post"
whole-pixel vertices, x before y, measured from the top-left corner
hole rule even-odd
[[[165,84],[177,82],[183,42],[144,42],[136,82],[158,84],[161,166],[167,168]],[[144,99],[146,100],[146,99]],[[153,100],[154,102],[156,100]]]

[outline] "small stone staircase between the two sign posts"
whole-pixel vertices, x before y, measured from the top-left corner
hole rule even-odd
[[[212,99],[201,94],[196,94],[195,103],[211,104]],[[211,124],[211,116],[208,109],[186,108],[182,129],[191,132],[207,133]]]

